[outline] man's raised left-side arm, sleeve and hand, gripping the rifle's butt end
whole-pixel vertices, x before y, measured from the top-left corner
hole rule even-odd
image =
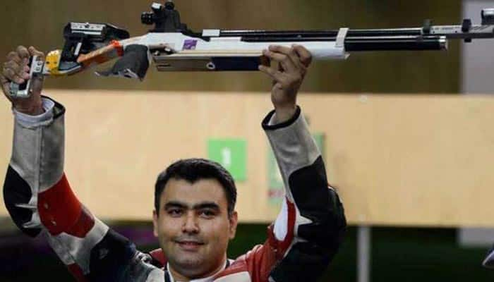
[[[18,47],[1,75],[8,97],[10,81],[28,79],[28,57],[42,53]],[[4,183],[4,201],[24,233],[47,235],[56,255],[78,281],[136,281],[153,271],[140,263],[126,238],[96,219],[79,202],[64,173],[65,109],[41,96],[42,80],[33,78],[27,99],[8,99],[15,116],[13,149]],[[144,281],[144,280],[143,280]]]

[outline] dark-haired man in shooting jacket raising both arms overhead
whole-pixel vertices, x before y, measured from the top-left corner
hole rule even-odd
[[[263,245],[227,259],[234,238],[234,181],[219,164],[186,159],[171,164],[155,185],[154,233],[161,250],[144,254],[83,207],[64,174],[64,106],[42,97],[34,81],[28,99],[11,99],[15,116],[13,152],[4,200],[26,234],[47,235],[78,281],[315,281],[342,242],[342,204],[328,187],[320,152],[308,132],[296,97],[311,54],[301,47],[272,46],[264,56],[279,63],[259,69],[273,80],[275,110],[263,128],[275,152],[286,200]],[[30,47],[8,54],[1,76],[29,78]]]

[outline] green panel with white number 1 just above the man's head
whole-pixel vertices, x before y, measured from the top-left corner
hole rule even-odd
[[[227,168],[234,180],[245,181],[246,147],[243,139],[210,139],[207,140],[207,157]]]

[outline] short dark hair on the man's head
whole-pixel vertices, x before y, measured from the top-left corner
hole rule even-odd
[[[215,161],[207,159],[181,159],[168,166],[167,169],[159,173],[155,184],[155,209],[159,215],[159,199],[164,190],[164,186],[170,178],[186,180],[195,183],[198,180],[213,178],[222,185],[224,194],[227,196],[228,214],[234,212],[236,202],[236,187],[234,178],[221,165]]]

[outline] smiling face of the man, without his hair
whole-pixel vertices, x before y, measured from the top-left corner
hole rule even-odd
[[[171,178],[153,212],[154,233],[174,271],[188,278],[209,276],[222,267],[234,238],[237,214],[228,215],[222,185],[207,178],[191,184]]]

